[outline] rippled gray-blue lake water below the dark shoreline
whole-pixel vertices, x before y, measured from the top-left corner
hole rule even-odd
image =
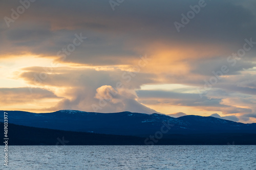
[[[256,169],[256,145],[9,146],[8,155],[4,169],[15,170]]]

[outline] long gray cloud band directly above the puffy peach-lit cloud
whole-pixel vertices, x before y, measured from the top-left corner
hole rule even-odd
[[[118,82],[122,83],[125,88],[138,89],[143,84],[154,82],[155,75],[153,74],[111,68],[110,70],[95,70],[95,68],[52,67],[45,69],[44,67],[26,67],[17,75],[17,78],[22,78],[33,85],[90,87],[92,89],[97,89],[103,85],[117,87]]]

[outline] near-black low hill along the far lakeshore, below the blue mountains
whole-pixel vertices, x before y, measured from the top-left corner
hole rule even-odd
[[[3,128],[3,123],[0,123]],[[4,128],[3,128],[4,129]],[[149,136],[149,135],[148,135]],[[147,137],[60,131],[9,124],[8,145],[144,145]],[[148,140],[147,140],[148,141]],[[1,145],[3,145],[2,143]],[[256,144],[256,134],[165,134],[154,145]]]

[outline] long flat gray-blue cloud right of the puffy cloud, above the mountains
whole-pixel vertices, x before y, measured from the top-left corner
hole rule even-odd
[[[241,108],[231,103],[223,104],[225,98],[211,98],[203,95],[199,98],[196,93],[177,93],[163,90],[138,90],[137,95],[143,104],[169,104],[176,106],[189,106],[205,108],[206,110],[220,110],[223,114],[245,114],[251,113],[252,108]],[[250,106],[252,107],[252,106]]]

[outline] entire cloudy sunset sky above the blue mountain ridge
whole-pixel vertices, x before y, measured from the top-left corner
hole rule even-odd
[[[0,110],[256,123],[256,2],[0,1]]]

